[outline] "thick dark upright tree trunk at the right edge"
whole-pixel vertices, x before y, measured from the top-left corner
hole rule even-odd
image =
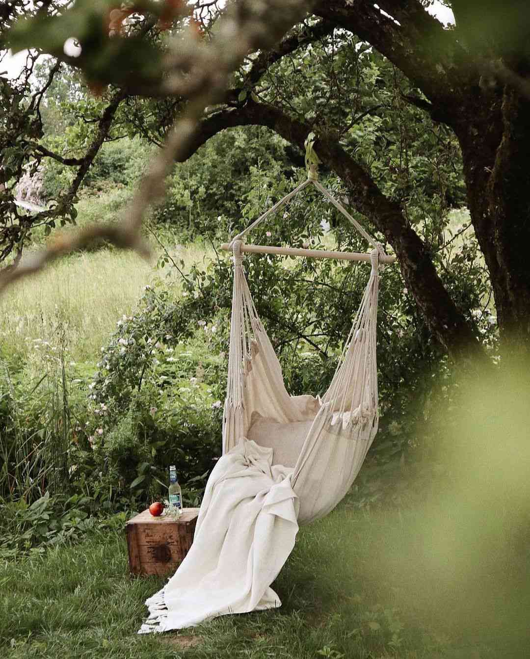
[[[485,96],[469,95],[454,129],[503,349],[530,351],[530,101],[510,88]]]

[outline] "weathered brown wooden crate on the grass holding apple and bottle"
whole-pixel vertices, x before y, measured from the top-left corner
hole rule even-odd
[[[132,575],[167,575],[175,572],[188,553],[198,508],[183,508],[178,519],[171,515],[153,517],[149,510],[125,525]]]

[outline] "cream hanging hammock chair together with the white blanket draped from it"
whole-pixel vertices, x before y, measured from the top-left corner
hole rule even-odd
[[[316,186],[372,243],[370,254],[243,244],[250,229],[307,185]],[[299,524],[326,515],[343,498],[377,432],[378,272],[394,258],[318,183],[314,167],[307,181],[223,248],[232,250],[234,263],[223,459],[206,484],[191,550],[162,590],[146,600],[150,617],[138,633],[280,606],[270,585],[291,553]],[[287,393],[250,297],[243,252],[371,262],[361,306],[322,398]]]

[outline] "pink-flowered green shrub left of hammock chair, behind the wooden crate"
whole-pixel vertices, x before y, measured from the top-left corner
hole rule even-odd
[[[147,286],[134,314],[117,322],[88,386],[94,461],[115,492],[146,502],[165,494],[170,464],[186,484],[221,453],[226,357],[216,324],[186,319],[183,307],[162,282]]]

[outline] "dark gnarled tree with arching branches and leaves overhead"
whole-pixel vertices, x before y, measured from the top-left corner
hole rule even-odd
[[[295,0],[5,3],[2,45],[51,59],[45,75],[32,78],[30,55],[17,81],[0,78],[1,258],[14,253],[16,263],[36,225],[74,221],[79,186],[102,145],[120,134],[165,144],[124,217],[123,227],[136,231],[174,161],[222,130],[267,127],[293,146],[294,159],[314,132],[322,168],[394,250],[405,287],[449,353],[482,355],[470,309],[452,288],[452,273],[476,254],[456,259],[445,248],[448,209],[463,204],[503,345],[528,349],[530,10],[519,0],[452,0],[444,4],[456,24],[443,26],[428,13],[432,4],[322,0],[308,11]],[[65,48],[72,38],[74,54]],[[79,103],[84,118],[74,157],[44,133],[42,99],[65,71],[82,74],[92,92],[65,100]],[[71,183],[53,208],[22,215],[13,206],[16,180],[27,163],[47,159],[72,167]],[[142,250],[125,229],[107,229],[107,237]]]

